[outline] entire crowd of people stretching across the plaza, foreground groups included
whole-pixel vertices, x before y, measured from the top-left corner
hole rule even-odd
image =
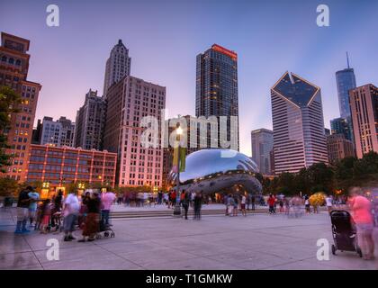
[[[319,213],[319,206],[325,206],[331,211],[346,209],[351,211],[353,225],[356,227],[356,235],[359,246],[365,259],[374,258],[374,226],[378,224],[378,204],[367,199],[358,187],[350,190],[349,196],[331,195],[295,195],[286,197],[282,194],[270,194],[266,198],[257,197],[249,193],[223,193],[220,198],[214,199],[204,195],[202,191],[175,190],[163,193],[123,193],[116,196],[112,192],[99,193],[86,191],[77,195],[76,191],[64,196],[58,191],[49,199],[40,199],[38,193],[31,186],[23,189],[18,196],[16,234],[29,233],[33,228],[40,233],[51,231],[63,231],[64,240],[75,239],[73,231],[82,230],[80,242],[93,241],[101,225],[111,226],[109,221],[112,203],[126,206],[142,207],[153,205],[166,205],[169,209],[175,209],[176,205],[183,208],[183,218],[188,219],[189,208],[193,208],[193,219],[201,220],[203,203],[223,202],[226,206],[226,216],[247,216],[247,210],[256,210],[259,205],[268,206],[268,213],[284,213],[289,216],[299,217],[307,213]],[[373,203],[373,204],[372,204]],[[375,206],[374,206],[375,204]],[[28,226],[29,223],[29,226]]]

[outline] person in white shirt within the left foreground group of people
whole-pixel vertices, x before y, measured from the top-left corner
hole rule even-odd
[[[67,195],[66,200],[64,201],[64,208],[63,208],[63,229],[64,229],[64,240],[71,241],[74,240],[75,237],[72,233],[75,230],[75,222],[78,216],[78,212],[80,210],[80,204],[77,198],[77,192],[72,191]]]

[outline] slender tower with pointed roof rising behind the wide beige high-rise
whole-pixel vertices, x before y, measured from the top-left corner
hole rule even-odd
[[[111,51],[109,58],[106,60],[105,77],[103,80],[103,96],[109,87],[123,78],[130,76],[131,58],[129,57],[129,49],[127,49],[122,40],[118,40]]]

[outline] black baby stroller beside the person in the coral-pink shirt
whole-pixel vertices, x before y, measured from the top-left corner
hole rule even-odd
[[[330,218],[332,223],[332,236],[335,244],[332,244],[332,254],[336,251],[357,252],[362,257],[362,251],[358,247],[356,238],[356,229],[351,222],[351,216],[348,211],[331,211]]]

